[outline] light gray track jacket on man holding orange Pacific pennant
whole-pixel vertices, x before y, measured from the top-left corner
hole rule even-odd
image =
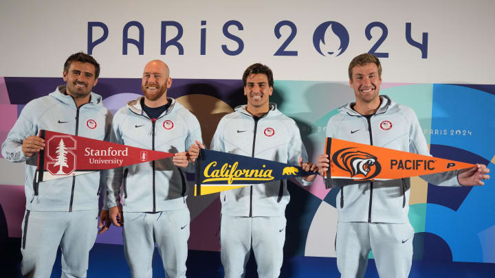
[[[408,106],[396,104],[386,95],[380,97],[382,104],[369,119],[354,111],[351,108],[353,103],[338,108],[340,113],[328,121],[327,137],[430,155],[414,111]],[[457,171],[430,174],[421,178],[434,185],[460,186]],[[409,189],[408,178],[346,185],[337,195],[338,220],[408,222]]]

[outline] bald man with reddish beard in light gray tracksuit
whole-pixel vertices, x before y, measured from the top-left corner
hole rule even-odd
[[[144,97],[129,102],[113,117],[111,141],[175,153],[173,159],[109,171],[107,205],[113,224],[123,227],[132,277],[152,277],[155,242],[166,276],[186,277],[190,216],[183,172],[188,166],[185,150],[195,140],[201,141],[201,129],[192,113],[166,96],[171,84],[164,62],[148,62],[142,76]],[[188,171],[194,171],[192,165]]]

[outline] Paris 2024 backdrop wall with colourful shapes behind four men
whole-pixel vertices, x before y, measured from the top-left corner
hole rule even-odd
[[[353,100],[349,62],[370,52],[382,61],[380,93],[415,110],[432,155],[488,167],[495,162],[492,1],[0,5],[1,141],[25,104],[63,84],[63,62],[76,51],[100,62],[94,91],[104,96],[113,113],[141,94],[146,62],[167,62],[173,78],[168,95],[197,116],[207,145],[219,119],[245,103],[244,69],[262,62],[276,80],[270,100],[296,120],[309,157],[316,161],[325,144],[327,120],[336,107]],[[23,164],[0,158],[0,258],[5,264],[20,259],[24,179]],[[192,185],[192,175],[188,179]],[[450,277],[486,277],[483,271],[495,271],[494,185],[489,180],[484,187],[445,188],[413,178],[409,218],[416,231],[416,260],[411,276],[427,277],[445,264],[454,271]],[[311,187],[290,183],[289,190],[283,277],[337,274],[337,189],[324,189],[318,178]],[[201,268],[210,271],[206,276],[219,277],[218,196],[190,196],[188,205],[188,275]],[[112,227],[96,242],[89,274],[104,277],[104,259],[129,275],[120,229]],[[425,265],[428,269],[415,268]],[[206,277],[204,272],[197,275]],[[366,277],[373,275],[371,269]]]

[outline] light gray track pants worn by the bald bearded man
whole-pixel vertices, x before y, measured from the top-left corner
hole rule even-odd
[[[157,213],[124,211],[124,253],[133,278],[151,278],[155,242],[166,277],[186,277],[188,209]]]

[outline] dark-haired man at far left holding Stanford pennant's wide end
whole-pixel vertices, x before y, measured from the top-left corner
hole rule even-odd
[[[21,242],[21,273],[25,277],[50,277],[58,246],[62,277],[86,277],[89,250],[98,231],[100,172],[36,183],[37,154],[45,147],[45,141],[36,135],[43,129],[108,139],[111,114],[102,97],[91,92],[99,74],[100,65],[93,57],[82,52],[69,56],[63,70],[67,84],[26,104],[2,144],[5,159],[26,163]],[[100,233],[107,231],[109,224],[108,211],[102,210]]]

